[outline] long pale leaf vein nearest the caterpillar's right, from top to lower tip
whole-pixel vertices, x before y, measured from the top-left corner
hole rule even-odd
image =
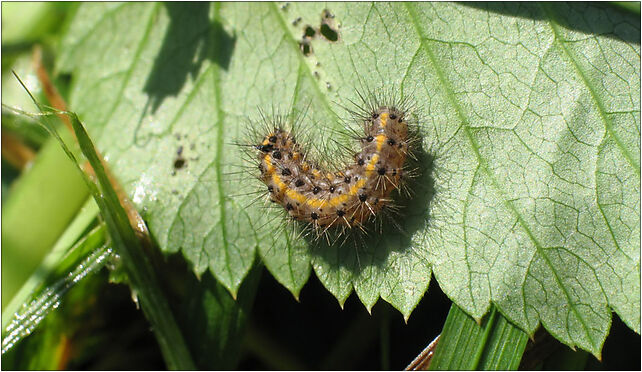
[[[438,81],[442,86],[442,90],[443,90],[443,92],[444,92],[444,94],[446,96],[446,99],[450,103],[451,107],[455,110],[455,113],[457,114],[457,117],[459,118],[460,125],[463,128],[464,133],[466,134],[466,137],[467,137],[467,139],[469,141],[471,149],[473,150],[473,152],[475,154],[475,157],[476,157],[476,159],[478,161],[478,164],[480,165],[481,169],[484,171],[486,176],[491,181],[493,187],[495,188],[495,192],[501,198],[501,200],[503,201],[503,204],[517,218],[517,221],[519,222],[520,226],[524,229],[524,232],[526,232],[526,235],[529,237],[529,239],[531,240],[531,242],[535,246],[535,249],[536,249],[538,255],[541,256],[544,259],[544,261],[546,262],[546,264],[548,265],[549,269],[553,273],[553,278],[554,278],[555,282],[557,283],[557,285],[559,286],[559,288],[561,289],[562,293],[564,294],[567,303],[569,305],[572,305],[573,302],[570,301],[570,294],[566,290],[566,287],[564,285],[562,285],[562,282],[561,282],[561,279],[559,277],[559,274],[557,273],[557,271],[555,270],[554,266],[550,262],[548,256],[544,253],[544,250],[543,250],[543,247],[542,247],[541,243],[535,237],[535,235],[531,231],[530,227],[528,226],[528,224],[526,224],[526,221],[524,221],[523,217],[517,211],[515,206],[511,202],[509,202],[509,199],[507,198],[505,193],[502,191],[503,189],[500,187],[499,182],[497,181],[497,179],[494,177],[494,175],[488,169],[488,165],[487,165],[486,159],[484,159],[481,156],[481,154],[479,153],[479,145],[477,144],[477,141],[475,140],[475,138],[473,137],[472,133],[470,132],[470,126],[469,126],[468,119],[464,115],[463,110],[461,108],[461,105],[459,104],[459,102],[457,102],[457,99],[456,99],[455,95],[452,92],[452,88],[450,87],[450,83],[448,82],[448,80],[447,80],[447,78],[446,78],[441,66],[436,61],[434,53],[430,49],[430,46],[425,42],[427,37],[426,37],[426,35],[424,35],[423,30],[420,27],[420,23],[419,23],[419,21],[417,19],[417,13],[416,13],[416,10],[414,9],[414,4],[404,3],[404,5],[406,6],[406,9],[408,10],[408,13],[410,14],[410,18],[411,18],[412,24],[415,27],[415,31],[417,32],[417,35],[419,36],[419,41],[420,41],[420,43],[421,43],[421,45],[422,45],[422,47],[423,47],[423,49],[424,49],[424,51],[426,53],[426,56],[430,60],[430,63],[431,63],[431,65],[433,66],[433,68],[435,70],[435,74],[437,75]],[[491,301],[492,301],[492,299],[491,299]],[[578,313],[576,306],[569,306],[569,308],[573,311],[573,313],[575,313],[575,315],[577,316],[578,320],[582,324],[582,327],[584,328],[584,333],[586,334],[586,336],[587,336],[589,342],[591,343],[591,345],[594,345],[593,338],[591,337],[591,334],[589,332],[589,327],[587,327],[587,324],[585,323],[584,318],[582,316],[580,316],[580,314]],[[541,321],[541,319],[540,319],[540,321]],[[573,340],[573,342],[575,342],[575,341]]]

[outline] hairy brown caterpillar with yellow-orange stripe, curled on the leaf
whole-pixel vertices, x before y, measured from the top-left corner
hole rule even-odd
[[[363,98],[365,105],[349,110],[362,131],[353,132],[359,150],[343,166],[328,169],[309,158],[296,136],[274,121],[268,133],[254,145],[259,180],[270,201],[278,204],[294,221],[316,232],[358,228],[383,210],[395,209],[393,192],[404,189],[413,176],[409,159],[418,140],[409,117],[407,100],[398,103]]]

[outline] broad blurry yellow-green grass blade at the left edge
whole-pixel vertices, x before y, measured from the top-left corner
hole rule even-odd
[[[70,133],[64,137],[68,143],[72,141]],[[41,148],[33,167],[23,172],[12,186],[2,207],[3,309],[89,197],[74,168],[52,139]]]

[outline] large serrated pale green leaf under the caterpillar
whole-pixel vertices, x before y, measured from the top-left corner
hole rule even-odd
[[[306,56],[326,7],[338,40]],[[312,267],[407,318],[434,271],[474,318],[494,303],[599,355],[611,311],[640,330],[639,33],[601,4],[83,4],[58,69],[161,248],[233,295],[258,251],[295,296]],[[314,249],[254,201],[234,143],[257,107],[306,112],[334,158],[356,89],[411,96],[434,164],[404,233]]]

